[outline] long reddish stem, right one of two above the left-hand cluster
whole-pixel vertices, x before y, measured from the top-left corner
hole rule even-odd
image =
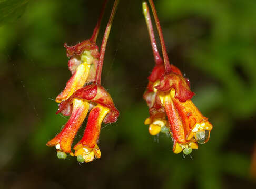
[[[103,37],[103,40],[102,40],[100,58],[99,58],[99,63],[98,63],[98,66],[97,66],[97,71],[96,71],[96,76],[95,76],[96,85],[101,84],[101,72],[102,72],[104,55],[105,55],[105,51],[106,51],[107,39],[109,38],[111,25],[113,23],[113,19],[114,19],[114,16],[115,16],[115,12],[116,12],[118,3],[119,3],[119,0],[115,0],[113,8],[112,8],[111,15],[110,15],[110,18],[109,18],[109,22],[107,23],[105,34],[104,34],[104,37]]]

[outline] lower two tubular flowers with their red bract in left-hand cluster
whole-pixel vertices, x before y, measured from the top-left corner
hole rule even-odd
[[[71,152],[71,144],[83,123],[88,110],[91,110],[84,136],[74,149],[75,156],[80,162],[90,162],[100,158],[101,152],[97,146],[101,123],[116,122],[119,111],[115,108],[109,93],[99,85],[91,84],[77,90],[70,98],[60,103],[57,113],[71,116],[64,129],[55,138],[50,140],[48,146],[56,146],[58,151]]]

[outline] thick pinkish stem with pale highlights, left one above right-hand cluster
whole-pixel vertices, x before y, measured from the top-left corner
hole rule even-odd
[[[163,59],[159,55],[159,51],[157,49],[157,45],[155,42],[155,35],[152,27],[149,6],[147,6],[146,2],[142,3],[142,9],[143,9],[143,14],[146,20],[147,30],[149,31],[149,35],[150,35],[150,41],[151,41],[151,46],[152,46],[152,50],[155,58],[155,64],[163,64]]]

